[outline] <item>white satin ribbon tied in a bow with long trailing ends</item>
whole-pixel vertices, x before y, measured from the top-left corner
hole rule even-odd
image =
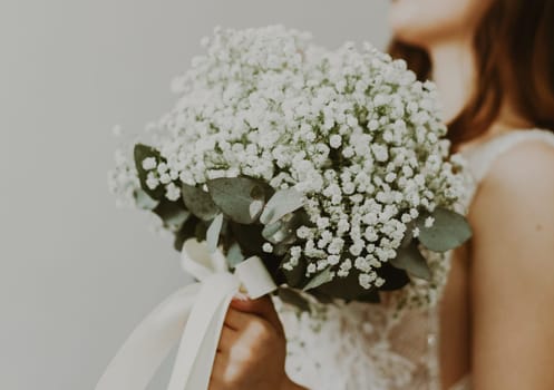
[[[260,257],[229,272],[221,251],[188,240],[183,269],[200,280],[162,302],[133,331],[100,378],[96,390],[144,390],[181,338],[168,390],[206,390],[223,321],[233,296],[245,289],[257,299],[276,289]]]

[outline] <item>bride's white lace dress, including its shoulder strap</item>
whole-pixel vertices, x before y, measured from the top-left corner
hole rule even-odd
[[[494,138],[465,153],[470,176],[467,208],[478,183],[492,164],[526,140],[554,146],[546,130],[517,130]],[[405,292],[390,293],[380,304],[350,303],[329,306],[321,313],[299,315],[292,306],[275,300],[288,338],[286,372],[311,390],[438,390],[438,302],[448,277],[450,254],[434,259],[443,264],[435,272],[440,283],[428,309],[398,310],[400,300],[428,294],[425,285],[410,284]],[[441,262],[440,262],[441,261]],[[451,390],[469,390],[467,374]]]

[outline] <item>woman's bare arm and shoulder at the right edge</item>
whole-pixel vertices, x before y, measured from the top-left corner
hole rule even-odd
[[[554,389],[554,148],[500,157],[469,220],[473,389]]]

